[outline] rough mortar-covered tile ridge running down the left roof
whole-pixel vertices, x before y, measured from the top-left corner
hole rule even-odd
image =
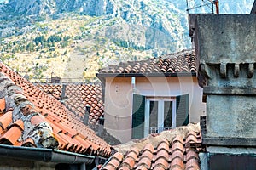
[[[0,78],[6,78],[6,76],[1,75]],[[9,77],[7,77],[9,79]],[[20,142],[25,141],[28,138],[33,139],[35,144],[37,146],[43,145],[44,147],[49,148],[56,148],[58,145],[57,139],[55,139],[55,136],[52,132],[51,127],[49,126],[49,123],[44,121],[44,116],[42,116],[43,122],[38,122],[34,126],[32,126],[32,116],[34,114],[38,114],[38,111],[36,111],[35,106],[26,98],[26,96],[23,94],[20,88],[18,88],[14,82],[9,79],[7,83],[3,84],[4,88],[8,85],[8,82],[10,82],[12,85],[9,85],[7,88],[7,94],[8,97],[5,97],[5,105],[9,106],[5,108],[6,110],[13,109],[12,111],[12,122],[9,125],[12,125],[14,122],[18,120],[22,120],[24,123],[24,131],[21,133]],[[2,82],[3,83],[3,82]],[[2,84],[1,84],[2,85]],[[12,88],[12,89],[10,89]],[[28,123],[30,126],[28,127]],[[36,128],[36,126],[40,126],[41,128]],[[11,128],[11,127],[9,127]],[[20,131],[22,130],[22,127],[20,127]],[[33,130],[35,130],[37,133],[31,133]],[[40,136],[40,133],[43,133],[44,136]],[[42,138],[41,138],[42,137]],[[51,138],[50,143],[47,143],[47,145],[44,145],[45,140],[49,140]],[[13,144],[13,143],[12,143]]]

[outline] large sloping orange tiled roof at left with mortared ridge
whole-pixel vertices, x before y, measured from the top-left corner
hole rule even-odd
[[[110,146],[64,105],[0,62],[0,144],[109,156]]]

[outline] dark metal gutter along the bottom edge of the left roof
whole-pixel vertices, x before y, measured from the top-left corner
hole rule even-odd
[[[93,163],[95,160],[95,156],[84,156],[68,151],[46,148],[30,148],[5,144],[0,144],[0,156],[30,161],[44,161],[68,164],[85,163],[87,165]]]

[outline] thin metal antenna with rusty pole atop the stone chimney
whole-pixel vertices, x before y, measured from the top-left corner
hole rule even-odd
[[[189,10],[193,10],[195,8],[202,8],[202,7],[205,7],[205,6],[210,8],[211,11],[212,11],[212,14],[214,14],[214,11],[213,11],[214,5],[215,5],[215,8],[216,8],[216,14],[219,14],[218,0],[215,0],[215,1],[201,0],[200,4],[193,4],[193,5],[190,5],[191,3],[195,3],[195,1],[193,1],[193,0],[186,0],[186,2],[187,2],[187,12],[188,12],[188,14],[189,14]]]

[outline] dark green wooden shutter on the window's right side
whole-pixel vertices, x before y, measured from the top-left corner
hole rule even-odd
[[[176,97],[176,127],[189,124],[189,94]]]

